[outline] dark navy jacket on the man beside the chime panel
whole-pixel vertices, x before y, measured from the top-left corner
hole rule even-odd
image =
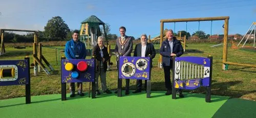
[[[172,66],[173,57],[170,56],[170,46],[167,39],[162,42],[159,52],[160,55],[163,56],[163,66]],[[177,40],[176,37],[173,39],[173,53],[176,54],[177,57],[180,57],[184,53],[181,42]]]

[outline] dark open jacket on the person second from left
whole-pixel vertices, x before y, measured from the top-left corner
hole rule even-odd
[[[110,55],[108,53],[108,49],[106,48],[106,46],[104,46],[104,48],[102,49],[102,53],[103,53],[103,58],[105,58],[105,61],[103,62],[103,68],[104,68],[104,72],[106,72],[106,69],[108,68],[108,64],[107,61],[110,59]],[[100,61],[102,61],[102,57],[100,55],[100,48],[99,45],[95,45],[93,47],[93,56],[96,59],[96,70],[100,69]]]

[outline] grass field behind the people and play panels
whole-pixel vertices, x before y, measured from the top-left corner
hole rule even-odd
[[[248,100],[256,100],[256,68],[243,67],[236,65],[229,65],[228,70],[222,70],[222,54],[223,47],[216,46],[210,48],[209,46],[214,44],[188,44],[186,52],[182,56],[200,56],[207,57],[209,55],[214,57],[213,61],[213,75],[212,75],[212,95],[229,96],[231,98],[242,98]],[[65,48],[63,46],[57,46],[55,48]],[[135,45],[134,45],[135,48]],[[114,49],[114,45],[111,45],[111,49]],[[165,90],[164,86],[164,73],[163,69],[157,67],[159,59],[159,44],[155,45],[157,52],[156,57],[153,59],[152,69],[152,90]],[[17,60],[24,59],[26,55],[29,55],[32,62],[32,48],[26,49],[14,49],[6,48],[6,54],[0,56],[1,60]],[[55,75],[47,76],[45,73],[40,73],[39,76],[33,75],[31,69],[31,95],[48,95],[60,93],[60,65],[56,61],[56,56],[64,56],[63,52],[58,49],[42,48],[42,54],[46,59],[54,65],[57,70]],[[133,53],[132,53],[133,55]],[[246,63],[256,65],[256,51],[247,50],[231,50],[228,47],[227,61]],[[91,57],[87,57],[91,58]],[[114,65],[111,70],[107,72],[107,85],[109,89],[117,88],[117,69],[115,63],[115,57],[111,58]],[[58,59],[57,59],[58,60]],[[123,82],[124,87],[125,82]],[[136,80],[131,80],[131,89],[136,89]],[[69,86],[67,86],[67,89]],[[67,90],[69,92],[69,90]],[[89,91],[89,83],[83,84],[83,91]],[[193,91],[185,91],[192,93],[205,93],[205,88],[201,87]],[[0,86],[0,99],[9,99],[25,96],[25,86]]]

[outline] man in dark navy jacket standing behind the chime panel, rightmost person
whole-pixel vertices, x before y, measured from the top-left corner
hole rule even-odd
[[[181,45],[181,42],[173,36],[173,30],[168,30],[166,32],[166,40],[162,42],[161,48],[159,50],[160,55],[163,56],[163,70],[164,70],[164,79],[165,79],[165,87],[167,92],[166,96],[172,94],[172,84],[170,82],[170,69],[173,69],[173,56],[180,57],[184,51]],[[173,71],[173,70],[172,70]],[[183,98],[181,89],[177,90],[177,95]]]

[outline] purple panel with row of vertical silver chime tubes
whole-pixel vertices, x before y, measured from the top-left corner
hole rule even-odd
[[[204,57],[175,58],[175,88],[195,89],[210,85],[210,59]]]

